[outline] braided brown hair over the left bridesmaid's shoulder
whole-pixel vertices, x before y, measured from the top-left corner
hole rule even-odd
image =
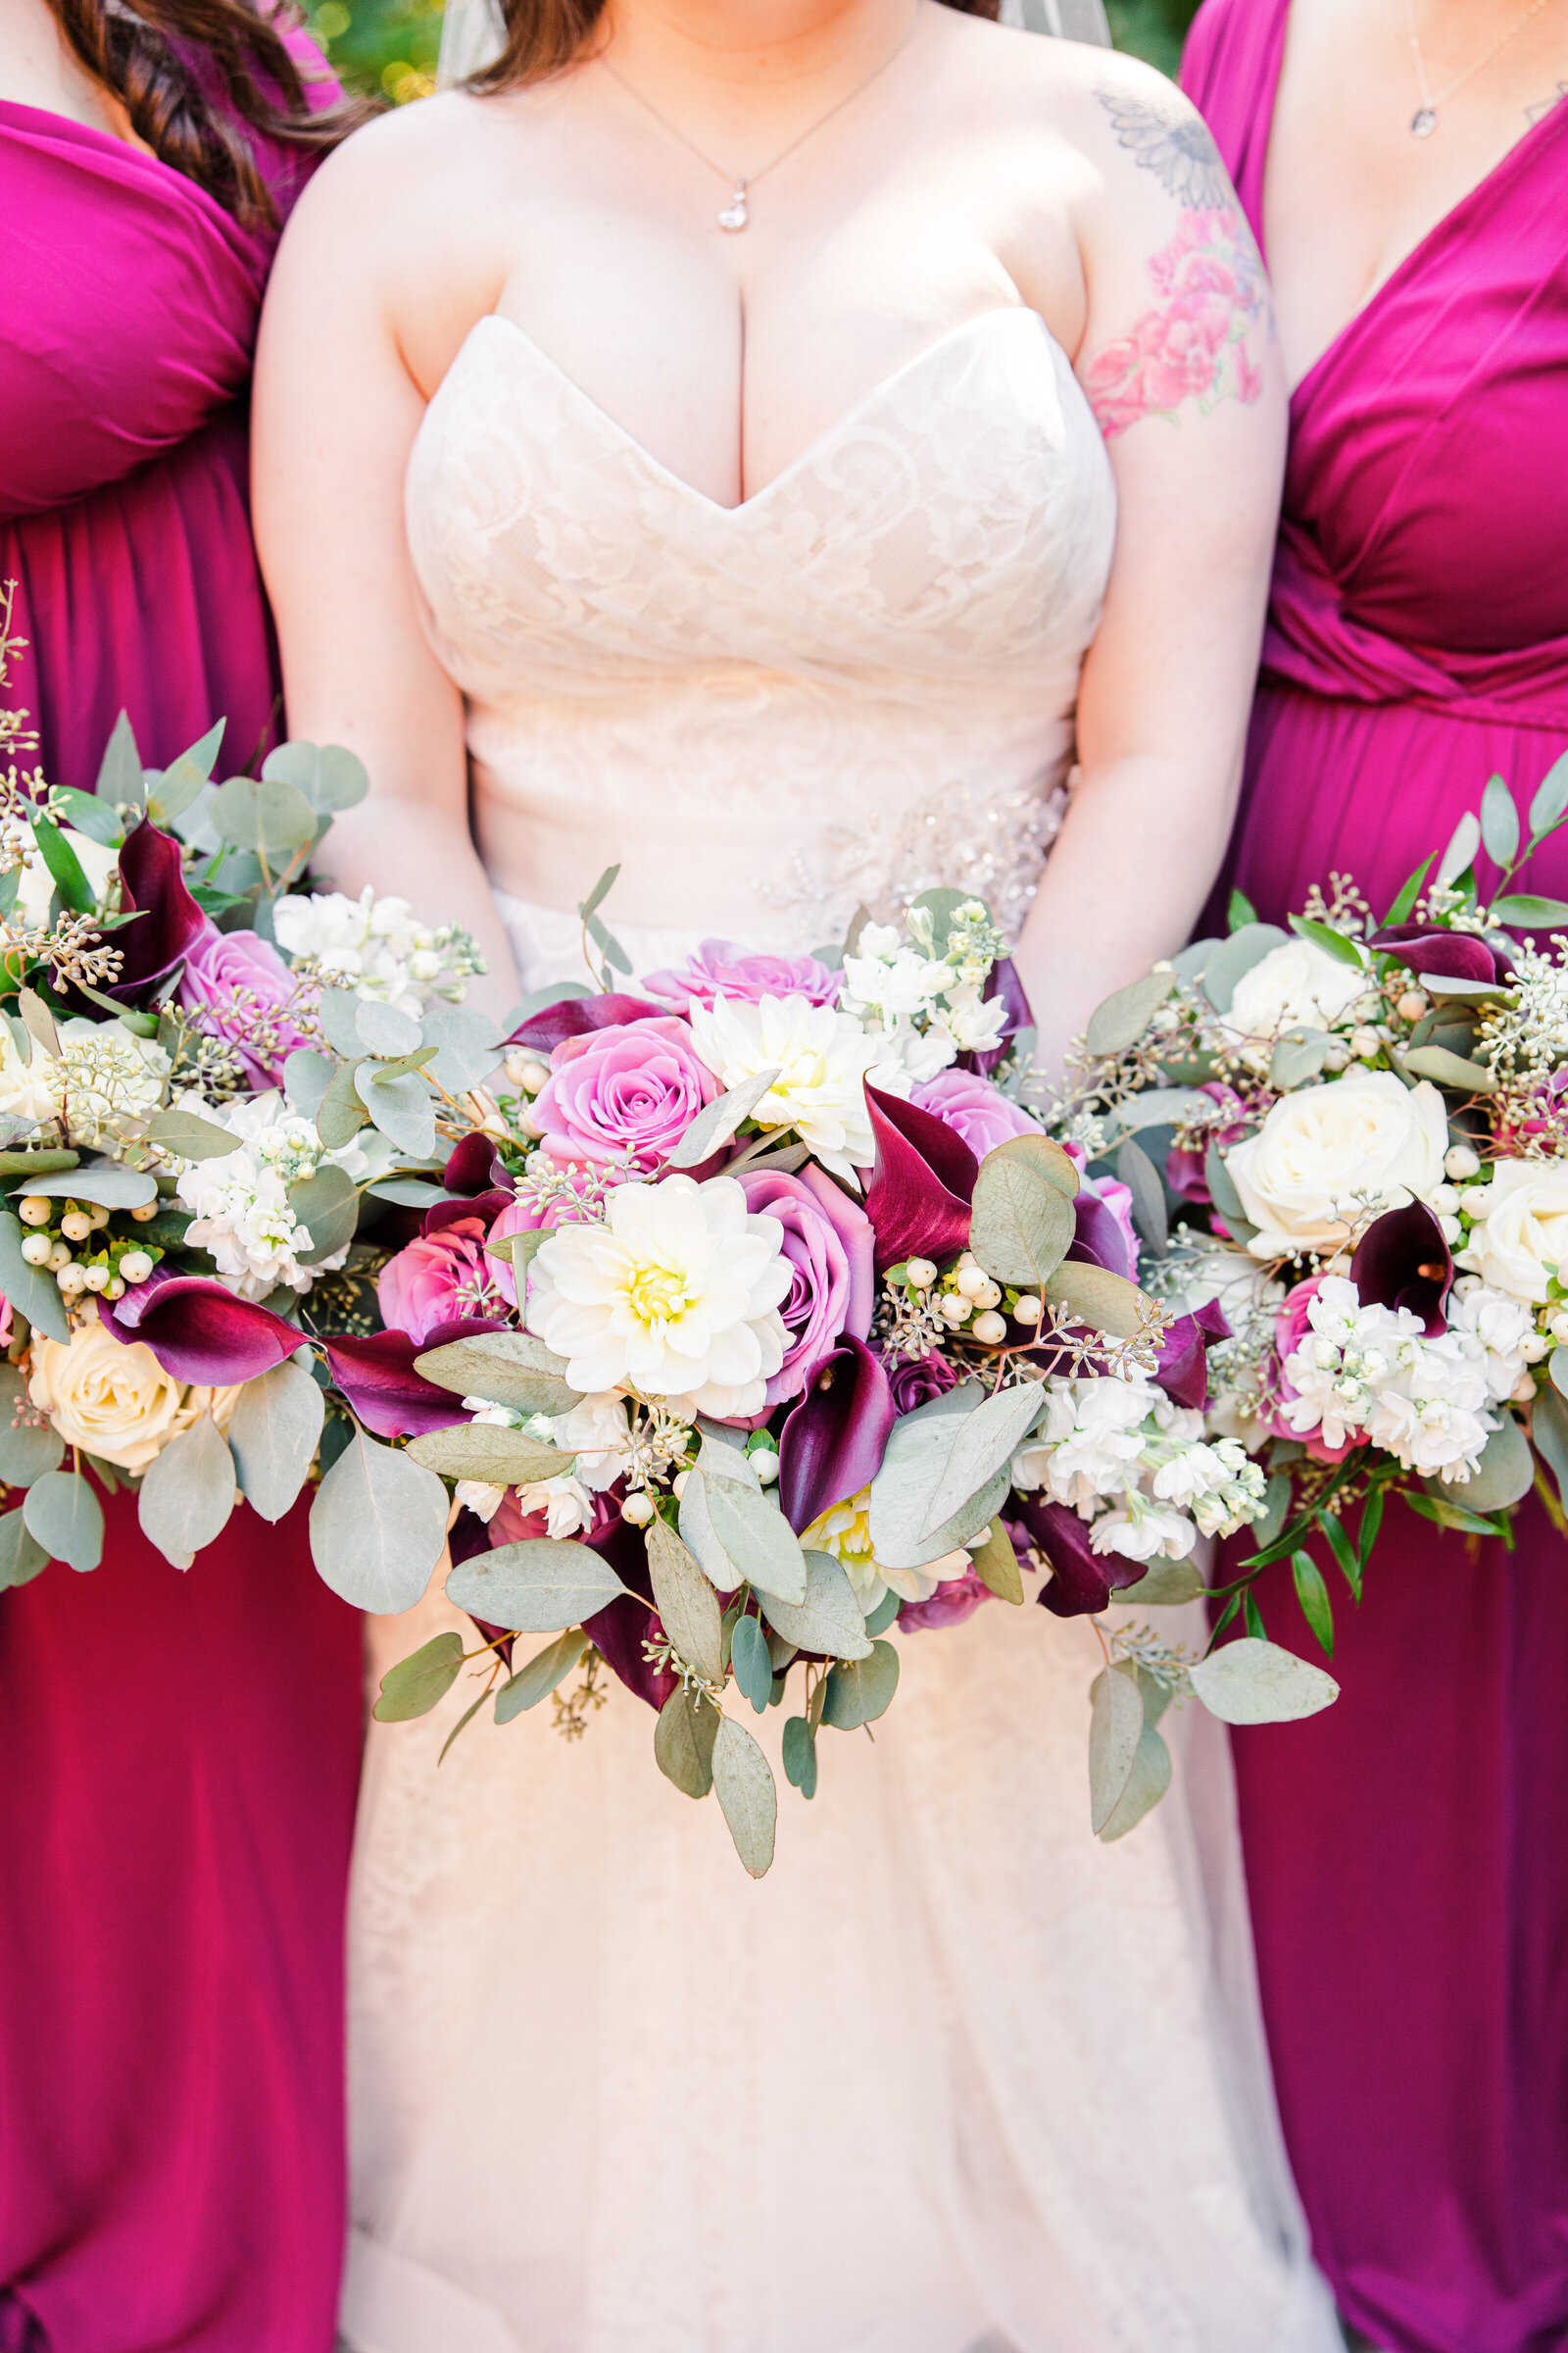
[[[282,42],[282,28],[296,19],[261,14],[247,0],[49,0],[49,7],[87,73],[120,99],[136,136],[247,228],[277,221],[247,125],[280,146],[324,153],[371,111],[360,101],[313,111]],[[193,52],[209,61],[209,75],[197,71]]]

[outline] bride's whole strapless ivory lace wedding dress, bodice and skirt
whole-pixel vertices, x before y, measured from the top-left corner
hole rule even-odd
[[[524,981],[564,918],[639,969],[813,946],[973,882],[1018,920],[1070,758],[1114,492],[1039,318],[987,313],[715,506],[515,325],[430,402],[409,539],[524,824]],[[508,866],[520,880],[517,866]],[[670,925],[679,920],[679,934]],[[374,1673],[442,1626],[374,1626]],[[1168,1624],[1168,1614],[1166,1614]],[[1187,1635],[1197,1635],[1190,1624]],[[524,1645],[524,1652],[538,1647]],[[752,1882],[618,1685],[581,1741],[463,1682],[374,1725],[353,1889],[355,2353],[1331,2353],[1274,2118],[1229,1758],[1088,1831],[1093,1631],[900,1640]]]

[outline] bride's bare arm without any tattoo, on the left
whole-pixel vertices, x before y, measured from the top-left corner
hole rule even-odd
[[[503,1014],[517,974],[468,826],[463,699],[425,640],[402,520],[425,414],[393,329],[395,275],[421,268],[393,186],[409,181],[402,146],[383,125],[360,132],[284,233],[256,353],[256,546],[289,734],[346,744],[371,779],[334,821],[334,882],[374,882],[430,925],[465,925],[489,962],[470,1002]]]

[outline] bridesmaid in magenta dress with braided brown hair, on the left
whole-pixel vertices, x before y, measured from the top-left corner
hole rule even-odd
[[[160,765],[273,725],[244,402],[331,96],[242,0],[0,0],[0,581],[59,784],[122,704]],[[327,2353],[357,1619],[303,1518],[179,1577],[108,1511],[94,1577],[0,1595],[0,2344]]]

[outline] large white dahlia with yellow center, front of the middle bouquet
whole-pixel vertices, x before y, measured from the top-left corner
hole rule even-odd
[[[778,1372],[792,1268],[783,1226],[733,1176],[623,1184],[604,1224],[559,1226],[529,1264],[529,1332],[583,1393],[635,1388],[755,1414]]]

